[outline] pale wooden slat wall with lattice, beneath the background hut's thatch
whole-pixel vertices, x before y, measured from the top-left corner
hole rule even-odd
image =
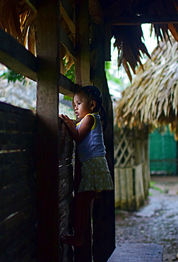
[[[114,158],[115,207],[138,210],[148,196],[150,185],[148,138],[124,132],[119,137]]]

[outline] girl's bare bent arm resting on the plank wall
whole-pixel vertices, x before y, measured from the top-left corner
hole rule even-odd
[[[71,137],[79,144],[82,142],[82,140],[86,137],[88,132],[90,132],[91,127],[94,125],[94,118],[93,115],[87,115],[83,119],[83,122],[81,124],[81,127],[79,130],[76,130],[75,125],[73,125],[73,122],[68,118],[67,115],[59,115],[60,118],[64,121],[64,124],[66,125],[67,130],[69,131],[69,134]]]

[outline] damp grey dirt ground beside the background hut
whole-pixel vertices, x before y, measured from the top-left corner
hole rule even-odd
[[[178,261],[178,176],[151,181],[148,201],[138,212],[116,210],[116,244],[160,244],[163,261]]]

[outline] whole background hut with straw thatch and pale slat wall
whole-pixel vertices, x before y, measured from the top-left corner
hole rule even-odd
[[[151,59],[144,64],[144,71],[137,70],[133,83],[123,91],[118,101],[116,123],[121,133],[115,150],[115,180],[118,181],[115,197],[116,205],[119,207],[126,205],[125,208],[133,208],[137,193],[140,200],[136,207],[139,207],[146,198],[150,181],[148,154],[150,130],[158,125],[170,125],[170,130],[174,130],[174,137],[177,139],[177,49],[177,42],[173,39],[158,45]],[[127,149],[124,149],[123,144],[121,145],[120,141],[123,139]],[[129,149],[130,147],[132,150]],[[124,156],[126,153],[121,154],[123,150],[129,152],[126,156],[127,161]],[[134,176],[132,182],[128,179],[128,174]],[[123,197],[124,193],[120,192],[121,188],[123,190],[121,183],[138,183],[137,193],[127,198]]]

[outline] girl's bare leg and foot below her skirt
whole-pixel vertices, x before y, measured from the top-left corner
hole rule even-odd
[[[88,222],[88,210],[94,196],[95,191],[76,193],[74,198],[74,234],[62,235],[62,243],[76,247],[83,245],[85,228]]]

